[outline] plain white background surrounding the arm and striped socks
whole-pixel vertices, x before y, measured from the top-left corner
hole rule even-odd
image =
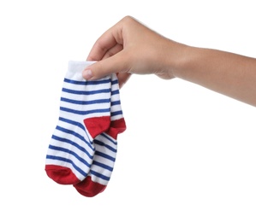
[[[193,46],[256,57],[254,1],[1,1],[1,221],[256,221],[256,109],[181,79],[133,77],[110,183],[45,173],[69,60],[125,15]]]

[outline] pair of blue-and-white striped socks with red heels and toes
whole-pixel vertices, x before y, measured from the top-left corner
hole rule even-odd
[[[92,61],[69,61],[63,81],[57,127],[49,144],[45,172],[57,184],[72,184],[82,196],[96,196],[110,181],[117,135],[126,130],[116,74],[86,81]]]

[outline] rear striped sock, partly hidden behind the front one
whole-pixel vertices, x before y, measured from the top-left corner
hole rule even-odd
[[[89,175],[74,188],[87,197],[103,192],[110,181],[116,161],[117,135],[126,130],[116,74],[112,74],[110,128],[94,139],[96,149]]]

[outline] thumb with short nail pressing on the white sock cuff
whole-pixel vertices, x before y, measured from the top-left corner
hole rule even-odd
[[[112,55],[104,60],[96,61],[92,65],[86,67],[83,71],[83,78],[86,80],[101,79],[110,73],[127,73],[125,57],[122,52]]]

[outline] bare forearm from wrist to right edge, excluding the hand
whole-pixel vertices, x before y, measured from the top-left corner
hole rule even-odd
[[[256,106],[256,59],[183,46],[174,75]]]

